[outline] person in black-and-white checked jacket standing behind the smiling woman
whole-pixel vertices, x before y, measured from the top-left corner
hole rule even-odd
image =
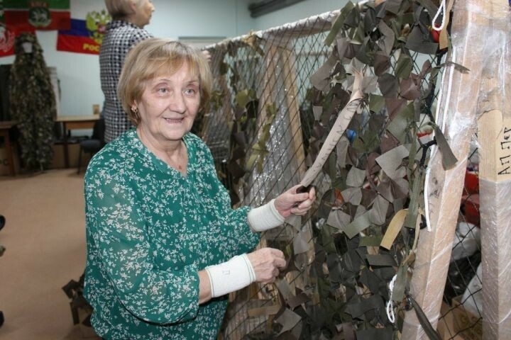
[[[105,0],[105,5],[112,20],[106,25],[99,50],[99,71],[105,98],[104,137],[105,142],[111,142],[131,128],[117,98],[117,84],[128,51],[138,42],[153,36],[143,28],[150,22],[155,7],[150,0]]]

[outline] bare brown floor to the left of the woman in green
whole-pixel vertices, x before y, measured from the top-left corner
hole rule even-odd
[[[73,325],[62,290],[85,264],[83,171],[0,176],[0,310],[2,340],[96,339]]]

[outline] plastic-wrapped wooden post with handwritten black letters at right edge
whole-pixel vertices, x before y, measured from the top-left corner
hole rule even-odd
[[[478,124],[483,339],[511,339],[511,16],[507,1],[490,1],[492,34]]]

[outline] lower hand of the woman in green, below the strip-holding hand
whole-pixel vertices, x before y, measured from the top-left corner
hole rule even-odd
[[[286,266],[284,253],[278,249],[258,249],[247,254],[247,257],[255,272],[255,281],[259,283],[273,283]]]

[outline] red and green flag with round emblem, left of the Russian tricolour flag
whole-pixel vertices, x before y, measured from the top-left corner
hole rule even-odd
[[[7,26],[29,23],[36,30],[69,30],[70,0],[3,0]]]

